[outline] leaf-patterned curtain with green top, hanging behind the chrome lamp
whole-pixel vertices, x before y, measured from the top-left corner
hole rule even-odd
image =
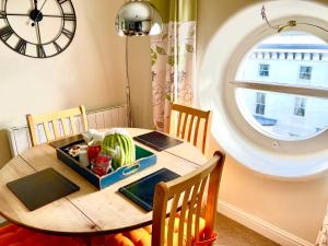
[[[153,121],[167,131],[173,102],[192,105],[196,78],[197,0],[151,0],[164,26],[151,36]]]

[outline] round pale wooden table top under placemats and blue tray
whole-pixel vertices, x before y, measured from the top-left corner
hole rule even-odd
[[[131,136],[150,130],[131,128]],[[157,152],[137,143],[157,155],[155,165],[98,190],[85,178],[59,161],[56,150],[40,144],[12,159],[0,171],[0,213],[9,221],[49,233],[116,233],[151,224],[152,212],[145,212],[120,195],[119,187],[128,185],[160,168],[166,167],[185,175],[206,162],[201,152],[184,142]],[[7,183],[52,167],[80,187],[80,190],[34,211],[30,211],[9,190]]]

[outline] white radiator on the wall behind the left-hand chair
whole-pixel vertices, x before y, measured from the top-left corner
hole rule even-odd
[[[127,107],[126,104],[103,108],[98,110],[86,112],[89,129],[102,129],[112,127],[127,127]],[[78,129],[82,129],[78,127]],[[39,142],[46,142],[44,131],[38,131]],[[31,148],[31,140],[27,125],[12,127],[8,129],[8,139],[12,156],[16,156],[26,149]]]

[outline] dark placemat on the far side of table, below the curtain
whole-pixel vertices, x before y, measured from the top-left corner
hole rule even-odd
[[[143,143],[156,151],[163,151],[167,148],[183,143],[179,139],[172,138],[159,131],[151,131],[145,134],[140,134],[133,138],[136,141]]]

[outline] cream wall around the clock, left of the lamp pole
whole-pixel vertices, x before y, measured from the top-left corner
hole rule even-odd
[[[24,124],[27,113],[125,102],[125,39],[114,28],[124,0],[72,1],[78,27],[62,54],[33,59],[0,43],[0,129]],[[9,159],[5,131],[0,130],[0,165]]]

